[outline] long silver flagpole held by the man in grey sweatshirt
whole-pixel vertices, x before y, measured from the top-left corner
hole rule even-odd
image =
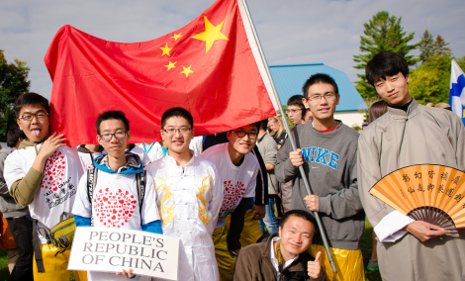
[[[274,98],[275,100],[277,101],[277,107],[279,109],[279,112],[281,113],[281,119],[282,119],[282,123],[284,125],[284,128],[287,132],[287,136],[289,138],[289,141],[291,142],[291,146],[292,146],[292,150],[296,150],[297,149],[297,146],[296,146],[296,142],[294,140],[294,136],[293,134],[291,134],[291,130],[289,128],[289,125],[287,124],[287,120],[286,120],[286,115],[284,114],[284,110],[283,110],[283,107],[281,105],[281,102],[279,100],[279,96],[278,96],[278,93],[276,91],[276,88],[274,86],[274,83],[273,83],[273,79],[271,77],[271,73],[270,73],[270,70],[268,68],[268,63],[266,62],[266,58],[265,58],[265,55],[263,53],[263,50],[262,50],[262,47],[260,45],[260,41],[258,40],[258,35],[257,35],[257,32],[255,31],[255,26],[253,24],[253,21],[252,21],[252,17],[250,16],[250,13],[249,13],[249,8],[247,7],[247,3],[245,0],[238,0],[242,3],[242,6],[244,7],[244,12],[245,12],[245,15],[246,15],[246,20],[248,21],[249,25],[250,25],[250,30],[252,32],[252,35],[255,39],[255,42],[257,44],[257,49],[258,49],[258,52],[260,54],[260,58],[262,59],[262,61],[264,62],[264,70],[266,72],[266,75],[268,76],[268,79],[270,81],[270,86],[271,86],[271,91],[274,95]],[[304,182],[304,186],[305,186],[305,189],[307,191],[307,193],[309,195],[312,195],[313,192],[311,190],[311,187],[310,187],[310,184],[308,182],[308,179],[305,175],[305,170],[303,168],[303,166],[299,166],[299,172],[300,172],[300,176],[302,177],[302,180]],[[325,250],[326,250],[326,254],[328,256],[328,259],[329,259],[329,262],[331,264],[331,268],[333,270],[334,273],[336,273],[336,265],[334,263],[334,260],[333,260],[333,257],[331,255],[331,251],[329,249],[329,243],[328,243],[328,239],[326,237],[326,233],[325,233],[325,230],[323,228],[323,224],[321,223],[321,219],[320,219],[320,215],[317,211],[314,211],[312,212],[313,215],[315,216],[315,220],[316,220],[316,223],[317,223],[317,226],[318,226],[318,229],[320,231],[320,235],[321,235],[321,239],[323,240],[323,245],[325,247]]]

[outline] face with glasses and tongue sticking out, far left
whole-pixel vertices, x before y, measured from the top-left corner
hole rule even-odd
[[[43,141],[50,131],[47,110],[41,105],[24,105],[19,111],[17,123],[27,139],[35,143]]]

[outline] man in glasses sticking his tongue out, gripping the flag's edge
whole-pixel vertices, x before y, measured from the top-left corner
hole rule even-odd
[[[22,94],[15,102],[15,113],[26,139],[5,160],[4,177],[10,194],[18,204],[29,207],[34,220],[34,280],[68,280],[69,249],[54,246],[37,226],[50,229],[71,212],[82,175],[79,158],[76,150],[65,146],[63,135],[50,132],[46,98]],[[75,278],[80,280],[79,274]]]

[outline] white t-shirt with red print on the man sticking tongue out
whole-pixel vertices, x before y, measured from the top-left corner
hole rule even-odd
[[[13,151],[5,160],[4,177],[8,188],[24,178],[31,169],[41,144]],[[48,228],[61,220],[63,212],[71,212],[82,167],[75,149],[61,147],[46,161],[40,187],[29,204],[31,217]],[[41,243],[46,240],[39,235]]]

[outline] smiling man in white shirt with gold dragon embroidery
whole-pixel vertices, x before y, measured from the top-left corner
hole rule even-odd
[[[178,279],[217,281],[212,234],[223,202],[220,178],[212,163],[189,149],[194,120],[186,109],[165,111],[161,128],[168,154],[146,170],[155,182],[163,233],[182,242]]]

